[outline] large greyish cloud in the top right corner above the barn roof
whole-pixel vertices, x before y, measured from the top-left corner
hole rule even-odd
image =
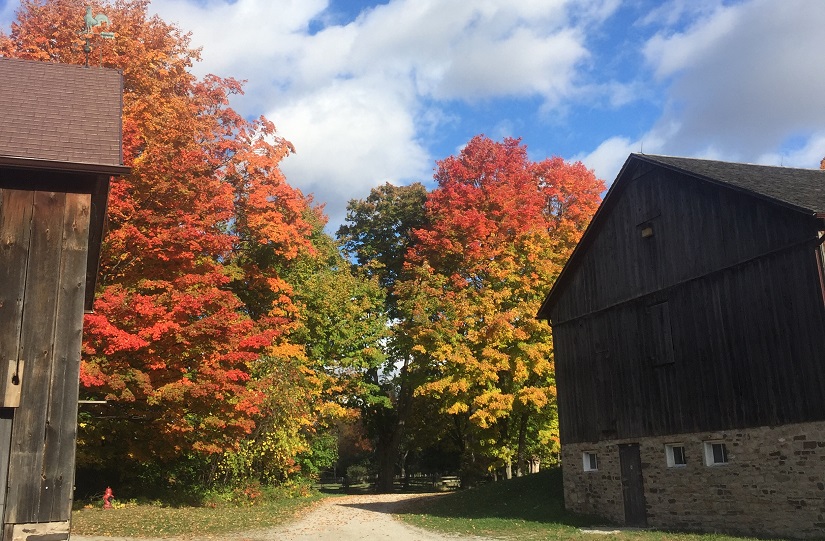
[[[720,7],[645,53],[671,81],[657,130],[678,125],[669,148],[748,160],[825,125],[825,10],[815,0],[753,0]],[[823,149],[825,150],[825,149]]]

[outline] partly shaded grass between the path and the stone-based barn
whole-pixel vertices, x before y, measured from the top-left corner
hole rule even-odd
[[[745,541],[716,534],[658,531],[584,533],[580,528],[604,526],[603,520],[576,516],[564,510],[561,471],[490,483],[411,504],[399,514],[403,521],[445,533],[495,539],[537,541],[553,539],[605,541]],[[608,528],[612,530],[612,528]]]

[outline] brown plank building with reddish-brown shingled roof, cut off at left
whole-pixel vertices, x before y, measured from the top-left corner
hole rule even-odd
[[[121,79],[0,58],[0,541],[69,537],[83,314],[128,171]]]

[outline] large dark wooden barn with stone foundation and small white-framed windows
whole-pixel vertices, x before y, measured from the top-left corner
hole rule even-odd
[[[565,502],[825,537],[825,171],[631,154],[539,317]]]

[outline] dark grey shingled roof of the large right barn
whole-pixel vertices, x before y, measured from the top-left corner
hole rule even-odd
[[[715,184],[728,185],[795,207],[797,210],[812,214],[825,213],[825,171],[820,169],[795,169],[651,154],[631,154],[628,161],[632,158],[689,173]]]

